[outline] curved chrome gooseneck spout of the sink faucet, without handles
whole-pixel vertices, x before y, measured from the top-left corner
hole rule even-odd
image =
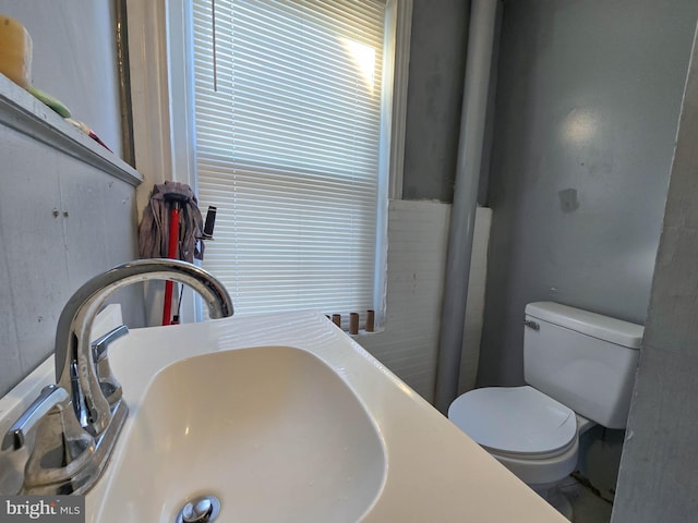
[[[109,425],[111,412],[93,361],[92,324],[112,293],[146,280],[173,280],[190,285],[204,299],[212,318],[233,314],[232,301],[222,283],[204,269],[174,259],[130,262],[83,284],[68,301],[58,320],[56,382],[70,392],[80,424],[95,437]]]

